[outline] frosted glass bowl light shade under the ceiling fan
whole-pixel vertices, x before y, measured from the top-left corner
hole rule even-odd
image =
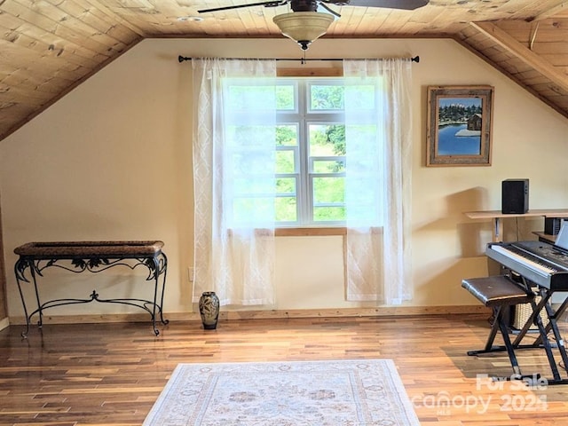
[[[280,28],[283,36],[300,44],[305,51],[310,43],[326,34],[334,17],[328,13],[291,12],[276,15],[272,20]]]

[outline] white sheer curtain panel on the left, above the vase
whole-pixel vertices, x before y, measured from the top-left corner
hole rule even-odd
[[[222,305],[273,304],[276,62],[192,67],[193,302],[215,291]]]

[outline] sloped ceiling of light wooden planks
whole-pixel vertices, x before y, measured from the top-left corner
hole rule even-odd
[[[197,12],[242,3],[255,0],[0,0],[0,140],[145,38],[281,37],[288,5]],[[454,38],[568,118],[568,1],[331,7],[327,38]]]

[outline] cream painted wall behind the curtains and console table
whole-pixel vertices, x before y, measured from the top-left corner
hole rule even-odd
[[[178,54],[299,59],[302,51],[288,39],[146,40],[4,139],[0,194],[11,317],[22,315],[12,250],[28,241],[162,240],[170,265],[165,311],[192,310],[187,279],[193,263],[191,62],[179,64]],[[421,61],[413,65],[414,122],[409,123],[415,286],[409,305],[476,304],[461,289],[461,279],[487,273],[483,251],[491,224],[463,212],[501,209],[501,180],[520,177],[530,179],[532,209],[568,208],[568,120],[451,40],[324,39],[307,51],[308,58],[414,55]],[[299,61],[294,65],[301,67]],[[426,88],[452,84],[495,88],[491,167],[424,166]],[[533,239],[531,230],[543,227],[542,219],[509,219],[508,232],[516,233],[517,225],[522,239]],[[341,237],[280,237],[278,302],[265,308],[359,306],[343,300],[342,248]],[[58,273],[41,282],[44,298],[88,296],[93,288],[108,292],[101,296],[148,291],[118,271],[104,280]],[[50,313],[88,312],[130,311],[89,304]]]

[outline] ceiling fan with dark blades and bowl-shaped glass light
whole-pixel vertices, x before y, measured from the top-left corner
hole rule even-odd
[[[340,17],[327,4],[336,6],[359,6],[381,7],[387,9],[399,9],[414,11],[419,7],[429,4],[429,0],[267,0],[264,2],[249,4],[233,4],[230,6],[202,9],[199,13],[228,11],[251,6],[277,7],[290,4],[293,12],[276,15],[272,20],[280,28],[284,36],[296,41],[302,48],[307,50],[310,43],[326,34],[327,28],[334,21],[335,15]],[[329,13],[318,12],[318,6],[326,9]]]

